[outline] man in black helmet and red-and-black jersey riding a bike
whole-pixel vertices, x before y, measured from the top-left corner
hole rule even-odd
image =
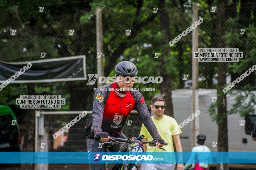
[[[121,61],[115,67],[115,82],[99,87],[95,92],[92,116],[86,122],[85,134],[87,136],[88,152],[105,152],[104,147],[99,147],[110,136],[117,138],[127,137],[122,133],[125,120],[132,109],[136,109],[140,118],[153,137],[162,147],[164,140],[158,134],[144,98],[133,87],[134,76],[138,74],[137,67],[129,61]],[[101,139],[94,139],[94,135]],[[108,147],[111,152],[119,149],[120,145]],[[91,170],[103,170],[104,164],[90,164]]]

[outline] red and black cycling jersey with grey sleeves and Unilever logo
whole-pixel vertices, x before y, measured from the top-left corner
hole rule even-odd
[[[151,136],[160,138],[142,94],[132,89],[127,92],[119,92],[126,94],[120,97],[114,88],[118,88],[116,83],[99,87],[99,90],[97,89],[98,91],[95,92],[92,112],[93,126],[88,137],[92,137],[96,131],[108,132],[110,136],[120,134],[127,116],[135,108]]]

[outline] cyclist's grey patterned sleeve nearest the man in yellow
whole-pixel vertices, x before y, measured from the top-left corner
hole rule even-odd
[[[134,100],[135,100],[135,109],[138,111],[138,114],[141,117],[141,121],[144,126],[147,128],[148,132],[152,136],[152,138],[161,138],[158,134],[157,128],[150,117],[149,111],[147,109],[147,105],[145,102],[141,103],[141,98],[143,98],[142,94],[138,91],[133,91]],[[144,100],[144,99],[143,99]]]

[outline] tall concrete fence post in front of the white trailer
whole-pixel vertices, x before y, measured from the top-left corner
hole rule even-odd
[[[198,6],[193,4],[193,23],[198,21]],[[192,31],[192,114],[199,109],[198,94],[198,59],[194,59],[194,52],[198,51],[198,27]],[[199,117],[192,121],[192,147],[197,146],[196,136],[199,134]]]

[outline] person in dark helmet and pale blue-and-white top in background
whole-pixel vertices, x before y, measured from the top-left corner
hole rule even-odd
[[[193,147],[192,152],[211,152],[211,150],[204,145],[206,136],[205,134],[200,133],[197,137],[197,143],[199,146]],[[193,160],[196,160],[196,162],[209,162],[209,163],[196,163],[195,164],[195,170],[209,170],[209,166],[211,165],[212,158],[211,153],[207,157],[197,156],[196,153],[191,153],[191,156],[188,160],[188,162],[193,162]],[[187,169],[191,163],[187,163],[184,165],[184,169]]]

